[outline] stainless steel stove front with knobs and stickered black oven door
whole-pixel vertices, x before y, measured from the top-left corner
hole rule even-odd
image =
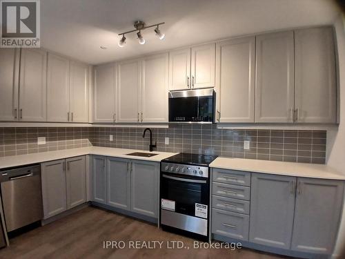
[[[208,166],[161,163],[161,228],[208,240]]]

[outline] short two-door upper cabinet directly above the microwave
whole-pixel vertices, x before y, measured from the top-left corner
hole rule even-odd
[[[215,87],[215,44],[169,52],[169,90]]]

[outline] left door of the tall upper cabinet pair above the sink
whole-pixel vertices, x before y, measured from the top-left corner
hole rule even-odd
[[[140,122],[140,61],[117,64],[117,122]]]

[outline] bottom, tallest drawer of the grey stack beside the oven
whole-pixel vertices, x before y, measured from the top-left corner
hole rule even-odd
[[[241,213],[212,209],[212,233],[248,240],[249,216]]]

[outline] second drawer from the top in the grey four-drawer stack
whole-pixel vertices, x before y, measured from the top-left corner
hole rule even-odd
[[[241,200],[250,200],[250,188],[246,186],[221,184],[213,182],[212,194],[228,198],[237,198]]]

